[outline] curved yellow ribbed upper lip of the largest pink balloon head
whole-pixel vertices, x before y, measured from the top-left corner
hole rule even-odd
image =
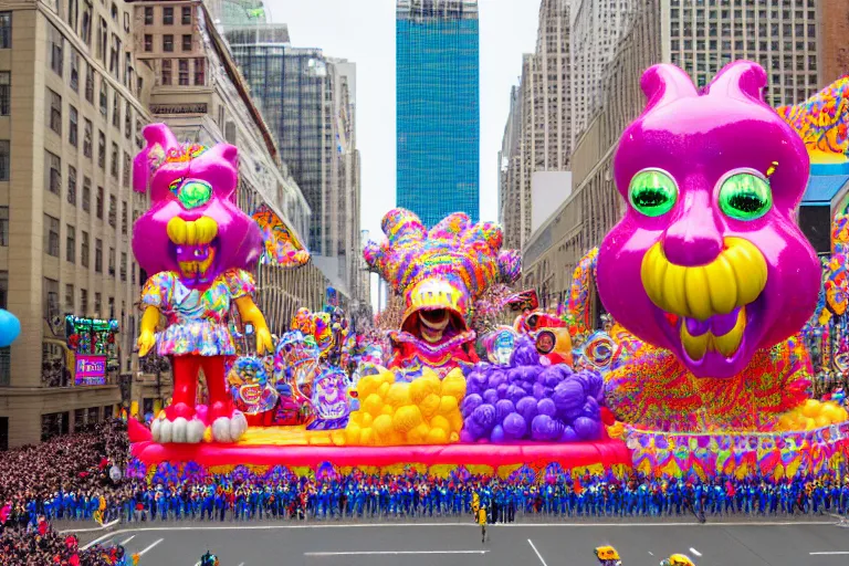
[[[670,263],[660,242],[642,259],[642,285],[654,305],[667,313],[706,321],[752,303],[766,286],[761,250],[742,238],[725,238],[725,249],[708,265]]]

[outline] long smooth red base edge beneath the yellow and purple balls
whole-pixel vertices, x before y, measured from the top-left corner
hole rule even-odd
[[[324,462],[335,467],[390,467],[409,462],[432,465],[489,465],[559,463],[565,469],[601,464],[630,467],[631,451],[619,440],[572,444],[450,444],[421,447],[335,446],[226,446],[156,444],[136,442],[135,458],[147,465],[160,462],[195,462],[205,468],[219,465],[277,465],[315,468]]]

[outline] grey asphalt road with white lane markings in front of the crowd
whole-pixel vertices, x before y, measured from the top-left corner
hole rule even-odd
[[[465,524],[213,525],[122,528],[101,543],[142,553],[139,566],[192,566],[207,549],[221,566],[596,566],[614,545],[625,566],[672,553],[698,566],[845,566],[849,530],[834,522],[495,525],[481,544]]]

